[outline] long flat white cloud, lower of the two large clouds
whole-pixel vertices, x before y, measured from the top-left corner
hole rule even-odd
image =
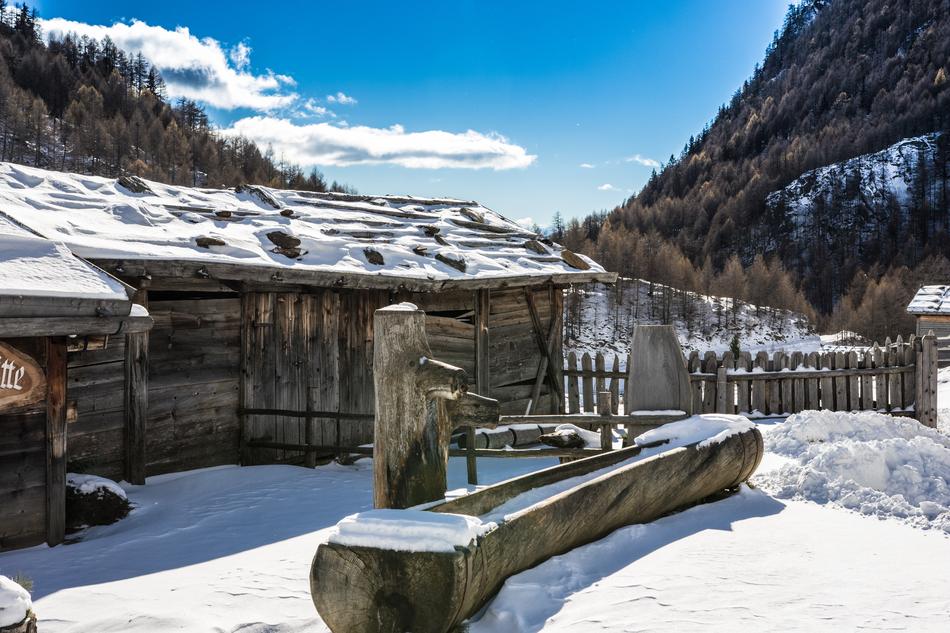
[[[225,134],[273,145],[303,165],[400,165],[415,169],[516,169],[537,156],[497,133],[474,130],[406,132],[401,125],[374,128],[327,122],[297,125],[289,119],[253,116],[235,121]]]

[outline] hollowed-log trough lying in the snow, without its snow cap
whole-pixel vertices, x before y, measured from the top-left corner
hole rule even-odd
[[[643,450],[631,446],[561,464],[426,507],[484,516],[525,491],[594,475],[506,516],[451,552],[320,545],[310,576],[317,611],[333,633],[445,633],[508,577],[619,527],[738,486],[755,471],[763,447],[751,427],[719,443],[697,442],[625,463]]]

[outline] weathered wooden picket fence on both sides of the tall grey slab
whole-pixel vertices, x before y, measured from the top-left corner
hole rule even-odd
[[[625,364],[629,367],[628,362]],[[915,415],[936,425],[937,346],[933,335],[898,336],[865,352],[732,352],[686,357],[694,413],[739,413],[750,417],[785,416],[806,409],[885,411]],[[610,366],[611,369],[607,369]],[[568,413],[596,411],[596,394],[609,392],[611,412],[619,413],[627,372],[620,357],[568,354],[564,376]],[[588,404],[589,403],[589,404]]]

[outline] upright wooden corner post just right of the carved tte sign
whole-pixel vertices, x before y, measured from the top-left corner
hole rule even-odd
[[[46,343],[46,544],[66,536],[66,339]]]

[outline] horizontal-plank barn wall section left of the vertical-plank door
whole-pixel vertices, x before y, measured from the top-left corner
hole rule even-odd
[[[236,463],[240,298],[153,292],[149,311],[146,474]]]

